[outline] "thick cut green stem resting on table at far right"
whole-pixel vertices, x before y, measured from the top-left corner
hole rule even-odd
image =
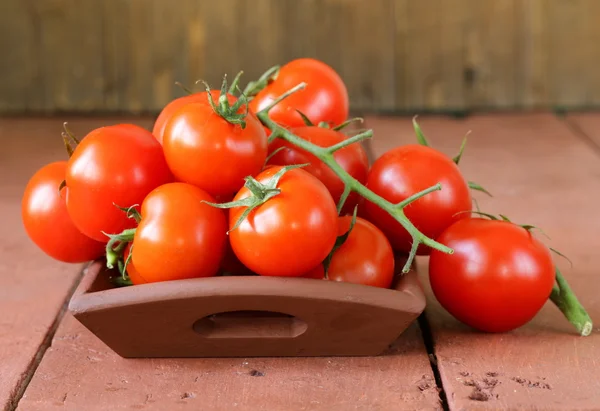
[[[567,283],[558,267],[555,267],[555,276],[556,285],[552,289],[550,300],[575,326],[581,336],[590,335],[593,328],[592,319],[571,290],[569,283]]]

